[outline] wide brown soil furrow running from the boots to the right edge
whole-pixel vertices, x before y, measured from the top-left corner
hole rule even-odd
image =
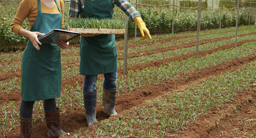
[[[123,110],[130,109],[131,107],[135,107],[138,104],[141,104],[143,101],[154,99],[159,97],[160,95],[164,95],[168,92],[173,92],[174,90],[181,90],[187,87],[187,85],[191,83],[197,83],[200,80],[208,79],[209,77],[213,75],[219,75],[222,73],[225,73],[227,71],[234,71],[238,69],[239,67],[243,66],[245,62],[251,62],[255,60],[256,56],[254,54],[234,59],[227,63],[222,63],[220,65],[211,66],[208,68],[196,70],[193,73],[188,74],[182,74],[180,77],[167,80],[164,82],[161,82],[156,85],[147,86],[143,88],[137,88],[133,92],[125,93],[122,95],[116,96],[116,111],[121,115]],[[79,78],[79,79],[78,79]],[[63,83],[68,82],[75,82],[81,79],[83,81],[83,77],[80,76],[78,78],[70,79],[70,80],[64,80]],[[62,83],[62,85],[63,85]],[[69,83],[69,84],[72,84]],[[64,85],[65,86],[65,85]],[[9,99],[10,101],[10,99]],[[106,119],[106,117],[102,113],[103,105],[101,103],[98,103],[97,105],[97,119],[98,121],[101,121],[103,119]],[[63,110],[63,109],[62,109]],[[65,131],[68,132],[74,132],[74,130],[78,130],[80,128],[86,127],[86,118],[84,115],[83,109],[74,109],[73,111],[70,111],[69,109],[66,110],[65,114],[61,114],[61,120],[62,120],[62,128]],[[99,122],[100,124],[100,122]],[[94,127],[87,128],[88,131],[93,131]],[[7,137],[17,137],[19,135],[20,127],[16,127],[15,130],[12,130],[10,132],[6,132]],[[36,124],[34,125],[33,134],[35,137],[41,137],[47,135],[47,128],[45,125],[45,121],[40,121],[40,119],[37,119]]]

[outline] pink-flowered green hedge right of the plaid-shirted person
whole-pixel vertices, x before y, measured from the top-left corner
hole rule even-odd
[[[138,11],[151,34],[172,32],[172,8],[140,7]],[[236,10],[222,9],[221,26],[230,27],[236,25]],[[114,17],[124,20],[124,13],[115,8]],[[248,10],[239,10],[239,25],[245,25],[249,20]],[[202,10],[201,29],[218,28],[220,21],[220,9]],[[137,28],[138,29],[138,28]],[[197,10],[178,9],[174,11],[174,32],[182,32],[197,29]],[[140,33],[140,31],[137,31]],[[128,22],[128,35],[134,35],[134,23]]]

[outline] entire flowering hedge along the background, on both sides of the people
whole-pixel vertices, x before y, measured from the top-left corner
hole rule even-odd
[[[68,8],[69,5],[65,5],[65,17],[64,22],[68,19]],[[28,38],[18,36],[17,34],[10,31],[10,23],[14,18],[15,13],[18,9],[18,4],[12,8],[8,8],[7,13],[5,12],[4,5],[0,5],[0,51],[9,50],[22,50],[25,48]],[[138,9],[142,15],[142,19],[146,23],[148,30],[151,34],[154,33],[170,33],[172,32],[172,9],[168,8],[151,8],[151,7],[140,7]],[[202,11],[201,29],[217,28],[219,26],[219,10],[205,10]],[[114,19],[120,19],[124,21],[124,13],[119,8],[115,8],[113,14]],[[222,27],[235,26],[236,23],[236,11],[235,10],[222,10]],[[249,19],[248,10],[240,10],[239,23],[247,24]],[[182,10],[175,9],[175,22],[174,31],[181,32],[186,30],[196,30],[197,25],[197,11],[193,9]],[[27,19],[23,23],[23,27],[29,30]],[[67,30],[67,25],[65,26]],[[138,30],[138,28],[137,28]],[[137,31],[140,33],[140,31]],[[134,23],[128,22],[128,35],[134,35]],[[121,35],[119,35],[121,36]],[[78,39],[78,38],[77,38]],[[74,40],[76,43],[77,40]]]

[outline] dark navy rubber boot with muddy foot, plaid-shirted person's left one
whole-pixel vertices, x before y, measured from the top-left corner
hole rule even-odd
[[[97,98],[96,90],[93,92],[84,92],[83,91],[84,111],[85,111],[85,116],[87,119],[88,126],[91,126],[93,123],[97,122],[96,98]]]

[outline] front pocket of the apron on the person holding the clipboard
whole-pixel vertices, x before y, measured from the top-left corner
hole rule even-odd
[[[34,51],[31,64],[31,75],[58,75],[60,69],[60,49],[52,46],[40,46]]]

